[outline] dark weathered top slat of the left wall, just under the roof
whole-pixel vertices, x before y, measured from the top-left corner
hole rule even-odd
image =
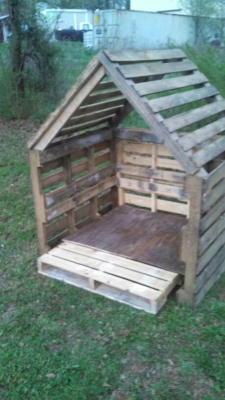
[[[97,143],[103,142],[105,140],[112,139],[112,130],[107,129],[103,130],[100,133],[89,133],[88,135],[78,135],[74,137],[69,142],[66,142],[62,145],[58,145],[54,148],[50,148],[48,150],[44,150],[40,154],[41,163],[45,164],[51,160],[55,160],[56,158],[62,157],[64,155],[70,154],[75,150],[85,149],[88,146],[93,146]]]

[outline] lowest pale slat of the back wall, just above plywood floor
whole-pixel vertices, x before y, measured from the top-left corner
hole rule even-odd
[[[151,208],[151,198],[125,193],[125,203],[138,207]],[[176,201],[157,199],[157,210],[168,211],[175,214],[188,215],[188,205]]]

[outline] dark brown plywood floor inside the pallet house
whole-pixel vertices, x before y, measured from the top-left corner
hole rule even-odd
[[[80,243],[184,275],[178,259],[183,217],[120,206],[66,241]]]

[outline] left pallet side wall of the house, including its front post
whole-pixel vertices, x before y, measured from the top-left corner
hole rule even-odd
[[[39,253],[117,205],[112,131],[30,150]]]

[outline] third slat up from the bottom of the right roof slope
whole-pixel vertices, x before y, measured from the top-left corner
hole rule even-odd
[[[177,129],[204,120],[205,118],[211,117],[212,115],[224,110],[225,100],[215,101],[214,103],[206,104],[202,107],[195,108],[194,110],[167,118],[163,121],[163,124],[169,129],[170,132],[174,132]]]

